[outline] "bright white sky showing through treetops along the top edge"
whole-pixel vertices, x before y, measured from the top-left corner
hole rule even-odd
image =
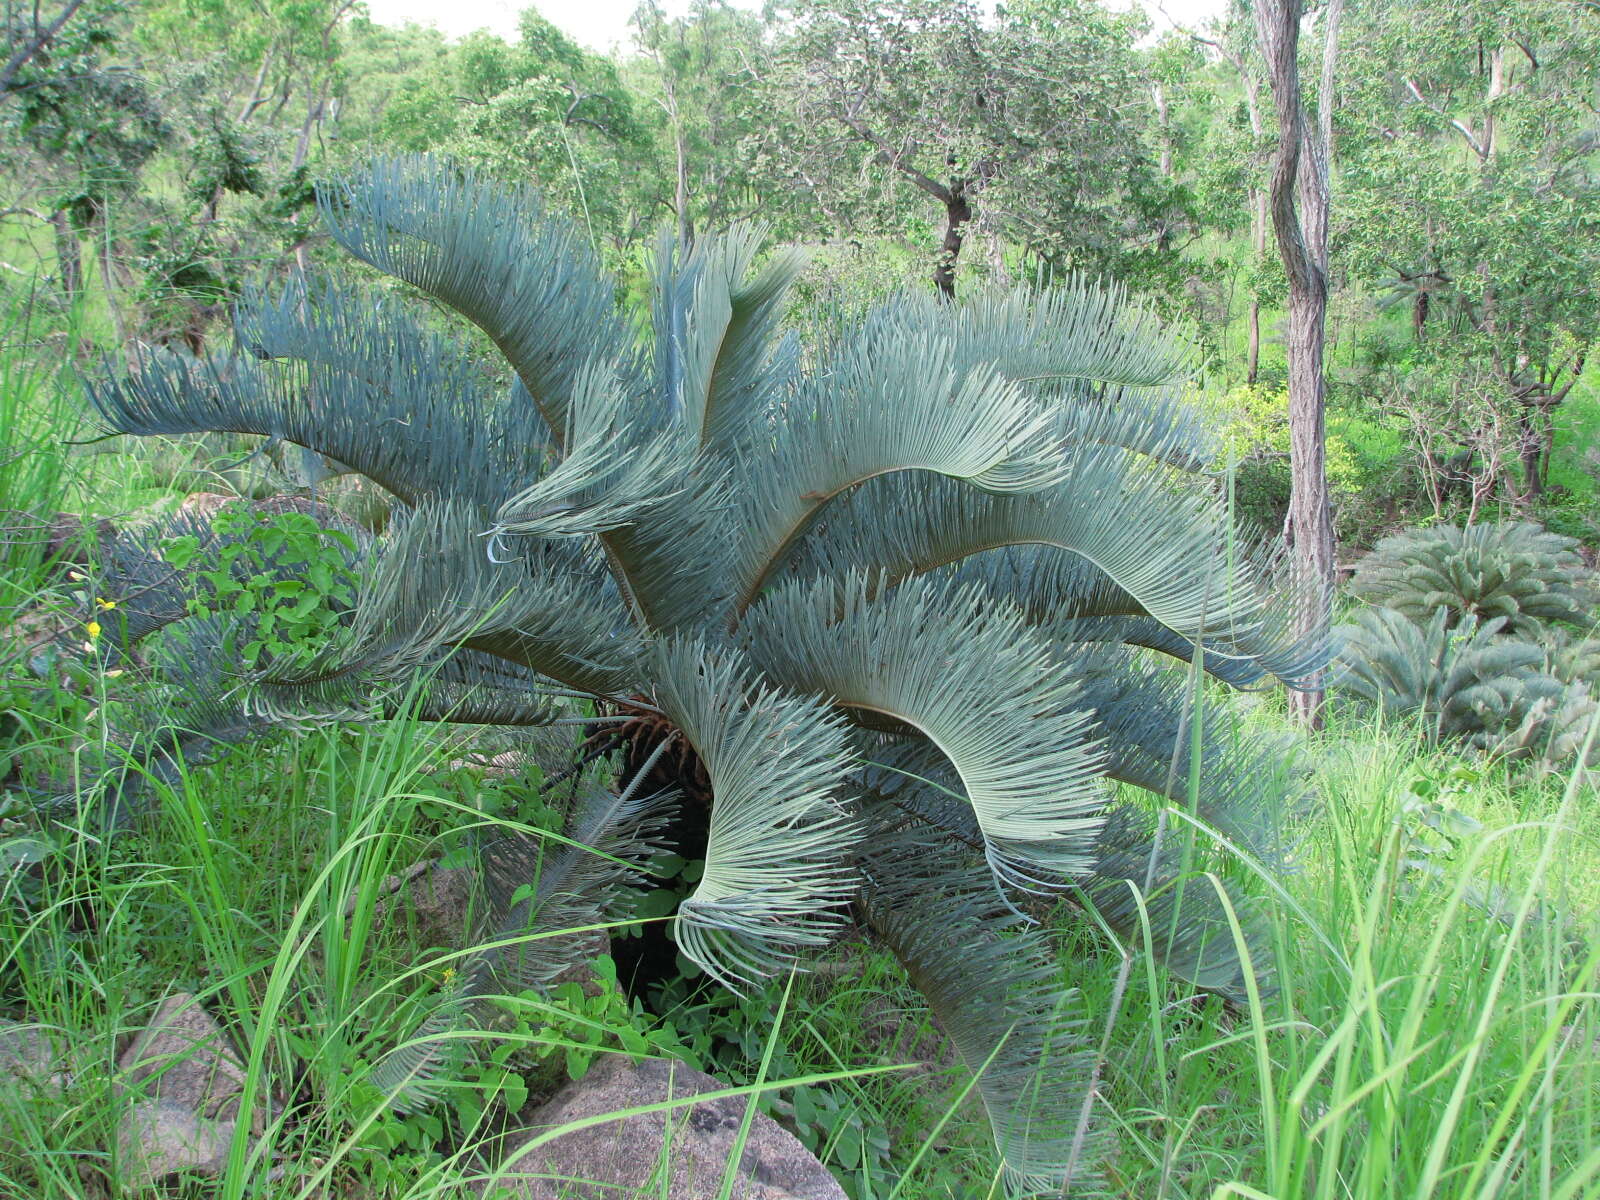
[[[733,0],[741,8],[760,8],[757,0]],[[1162,13],[1186,26],[1198,26],[1219,16],[1224,0],[1131,0],[1142,3],[1157,26],[1166,24]],[[414,21],[437,26],[451,37],[488,29],[501,37],[517,32],[517,13],[528,0],[368,0],[374,21],[402,24]],[[538,8],[558,29],[594,50],[610,50],[627,40],[627,19],[637,0],[538,0]],[[688,10],[686,0],[667,0],[669,13]]]

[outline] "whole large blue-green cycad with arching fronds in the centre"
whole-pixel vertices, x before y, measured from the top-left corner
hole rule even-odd
[[[232,354],[93,387],[117,430],[280,438],[400,514],[315,664],[227,670],[194,723],[240,736],[418,672],[440,718],[590,722],[627,763],[581,821],[608,864],[702,822],[674,920],[691,960],[746,986],[854,914],[982,1070],[1013,1189],[1082,1176],[1088,1014],[1022,914],[1070,891],[1133,938],[1142,910],[1173,970],[1235,984],[1214,893],[1174,885],[1155,814],[1178,800],[1270,859],[1298,786],[1280,746],[1186,725],[1195,688],[1160,656],[1234,685],[1323,661],[1293,632],[1299,592],[1232,533],[1173,397],[1184,349],[1085,282],[901,298],[802,346],[779,331],[798,258],[763,258],[755,227],[664,242],[646,326],[528,192],[430,160],[378,163],[322,211],[486,334],[509,386],[405,302],[294,282],[246,299]],[[163,587],[126,589],[128,630],[182,614]],[[643,803],[662,781],[667,816]],[[619,832],[643,811],[648,837]],[[504,886],[498,912],[568,920],[582,875]]]

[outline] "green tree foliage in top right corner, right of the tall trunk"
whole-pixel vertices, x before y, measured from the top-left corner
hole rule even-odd
[[[1360,280],[1410,307],[1400,398],[1435,456],[1499,446],[1501,494],[1534,498],[1554,410],[1600,336],[1600,16],[1562,0],[1406,0],[1354,6],[1349,37],[1336,237]],[[1446,446],[1432,430],[1448,429],[1462,384],[1504,418]]]

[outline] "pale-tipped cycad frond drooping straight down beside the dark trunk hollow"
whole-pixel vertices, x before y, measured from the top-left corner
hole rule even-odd
[[[854,886],[843,720],[704,643],[664,642],[654,669],[656,702],[693,742],[715,797],[678,946],[730,982],[773,974],[798,947],[826,944]]]

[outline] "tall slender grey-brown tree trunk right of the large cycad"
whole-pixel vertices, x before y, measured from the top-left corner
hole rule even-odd
[[[1301,0],[1254,0],[1256,29],[1278,117],[1270,205],[1278,254],[1288,275],[1290,514],[1299,584],[1306,589],[1296,632],[1325,634],[1333,597],[1333,512],[1328,502],[1323,416],[1323,338],[1328,314],[1328,158],[1333,141],[1333,66],[1342,0],[1326,10],[1326,50],[1317,136],[1306,126],[1299,83]],[[1299,208],[1296,211],[1296,192]],[[1307,726],[1322,722],[1322,675],[1290,693],[1290,710]]]

